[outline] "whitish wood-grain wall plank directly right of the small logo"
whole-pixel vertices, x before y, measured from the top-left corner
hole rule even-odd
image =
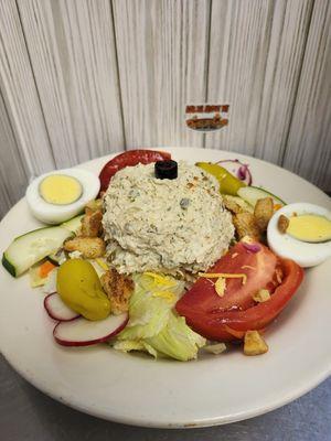
[[[206,147],[281,163],[311,8],[311,0],[213,1],[209,100],[231,108],[228,127],[206,136]]]

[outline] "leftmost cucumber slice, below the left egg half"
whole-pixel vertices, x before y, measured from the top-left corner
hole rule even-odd
[[[3,252],[2,265],[13,277],[18,277],[32,265],[56,252],[72,235],[72,232],[61,226],[34,229],[11,243]]]

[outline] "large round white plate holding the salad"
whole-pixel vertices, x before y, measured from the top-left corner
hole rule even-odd
[[[264,184],[287,202],[331,206],[317,187],[269,163],[217,150],[167,150],[190,162],[238,158],[250,164],[255,185]],[[81,166],[98,173],[106,159]],[[1,248],[39,225],[20,201],[0,224]],[[97,417],[168,428],[243,420],[298,398],[330,375],[330,260],[306,271],[300,290],[267,333],[267,354],[245,357],[234,351],[180,363],[126,355],[106,345],[56,345],[42,294],[29,288],[26,276],[15,280],[1,268],[0,348],[35,387]]]

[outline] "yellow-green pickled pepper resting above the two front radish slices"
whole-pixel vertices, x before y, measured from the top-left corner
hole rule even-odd
[[[110,313],[109,299],[87,260],[70,259],[62,263],[56,288],[63,302],[88,320],[103,320]]]

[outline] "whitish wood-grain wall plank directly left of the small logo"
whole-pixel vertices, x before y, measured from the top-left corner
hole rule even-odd
[[[186,103],[205,101],[209,0],[114,0],[126,142],[203,147]]]

